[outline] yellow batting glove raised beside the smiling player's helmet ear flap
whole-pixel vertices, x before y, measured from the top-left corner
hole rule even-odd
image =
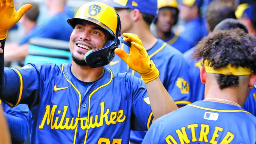
[[[130,54],[120,48],[115,49],[115,53],[124,60],[129,67],[140,73],[143,81],[148,83],[159,76],[159,70],[156,65],[150,60],[148,52],[142,45],[141,40],[137,35],[131,33],[123,34],[124,41],[131,42]]]

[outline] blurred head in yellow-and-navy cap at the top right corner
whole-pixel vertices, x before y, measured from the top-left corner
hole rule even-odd
[[[256,37],[256,9],[249,4],[240,4],[236,10],[237,19],[249,30],[249,34]]]

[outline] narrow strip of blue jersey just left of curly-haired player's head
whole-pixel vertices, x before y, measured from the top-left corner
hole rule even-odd
[[[191,48],[187,52],[183,53],[183,57],[188,62],[189,77],[190,77],[190,97],[191,102],[198,100],[204,100],[204,84],[200,79],[200,68],[202,67],[202,61],[192,59],[192,54],[196,47]]]

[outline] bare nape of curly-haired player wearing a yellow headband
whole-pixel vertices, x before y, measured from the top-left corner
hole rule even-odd
[[[204,89],[204,98],[205,99],[222,99],[222,100],[228,100],[235,102],[243,107],[245,100],[248,97],[248,93],[246,93],[246,90],[241,87],[237,86],[230,86],[227,88],[220,89],[219,84],[216,80],[212,81],[206,81],[205,83],[205,89]],[[211,100],[209,100],[211,101]],[[227,103],[221,100],[213,100],[215,102],[220,103]],[[231,104],[231,103],[229,103]]]

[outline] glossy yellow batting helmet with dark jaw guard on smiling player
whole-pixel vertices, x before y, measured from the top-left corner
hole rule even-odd
[[[75,28],[81,20],[87,20],[99,25],[111,35],[111,40],[106,41],[103,48],[89,51],[84,60],[91,68],[107,65],[115,56],[114,50],[120,44],[118,36],[121,36],[121,21],[116,11],[107,4],[101,2],[89,2],[82,5],[74,18],[68,19],[68,23]]]

